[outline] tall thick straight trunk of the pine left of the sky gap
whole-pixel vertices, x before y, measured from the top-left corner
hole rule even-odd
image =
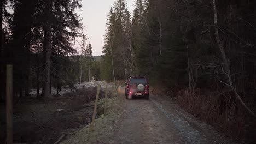
[[[46,16],[48,19],[44,26],[44,49],[45,49],[45,79],[44,79],[44,88],[43,88],[43,96],[44,97],[51,97],[51,15],[53,10],[53,1],[48,0],[46,5]]]

